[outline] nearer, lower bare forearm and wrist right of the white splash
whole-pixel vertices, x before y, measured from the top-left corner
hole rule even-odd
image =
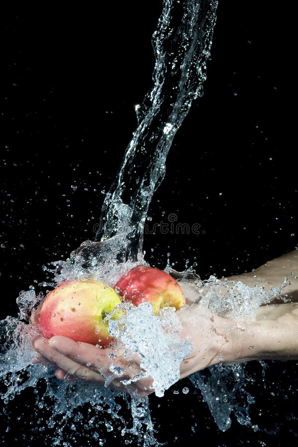
[[[262,306],[255,320],[241,321],[197,304],[180,311],[180,319],[182,339],[193,346],[181,365],[181,378],[220,362],[298,359],[297,303]]]

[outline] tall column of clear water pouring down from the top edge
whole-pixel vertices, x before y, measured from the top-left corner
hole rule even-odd
[[[152,38],[153,87],[143,104],[135,107],[138,127],[105,197],[104,224],[96,236],[96,240],[106,240],[127,228],[121,261],[142,256],[145,219],[164,178],[167,155],[192,101],[202,95],[216,6],[217,0],[164,1]]]

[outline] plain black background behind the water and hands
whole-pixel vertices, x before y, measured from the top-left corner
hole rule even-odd
[[[2,14],[2,318],[16,315],[20,290],[45,279],[43,264],[94,239],[101,191],[136,127],[134,105],[151,87],[151,35],[162,2],[98,7]],[[291,11],[278,2],[219,1],[204,95],[175,137],[149,211],[150,225],[174,213],[177,223],[199,224],[200,232],[147,234],[151,265],[164,268],[170,252],[178,270],[189,259],[202,278],[221,277],[297,246],[291,29]],[[289,416],[298,416],[296,363],[271,365],[267,389],[260,366],[250,368],[257,371],[252,414],[261,432],[233,422],[222,434],[193,391],[169,390],[161,407],[151,399],[160,440],[198,445],[205,434],[210,446],[281,445],[287,434],[296,445]]]

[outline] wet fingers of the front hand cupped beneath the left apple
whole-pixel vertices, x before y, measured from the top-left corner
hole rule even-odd
[[[188,298],[190,292],[186,293]],[[192,293],[193,297],[194,293]],[[197,293],[198,295],[198,293]],[[39,311],[32,314],[32,323],[39,323]],[[55,336],[49,340],[36,339],[34,348],[39,360],[47,359],[57,366],[55,375],[59,379],[75,377],[113,386],[116,389],[137,392],[146,396],[154,391],[153,379],[146,377],[140,368],[140,358],[117,342],[116,347],[100,349],[87,343],[74,342],[70,338]]]

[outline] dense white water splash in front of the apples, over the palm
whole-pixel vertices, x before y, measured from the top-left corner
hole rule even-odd
[[[193,351],[189,342],[181,342],[182,329],[175,308],[164,307],[159,315],[152,313],[151,303],[127,309],[125,317],[109,320],[112,336],[120,338],[126,348],[141,359],[142,377],[152,377],[155,394],[162,397],[166,389],[179,380],[180,364]],[[139,378],[126,380],[130,384]]]

